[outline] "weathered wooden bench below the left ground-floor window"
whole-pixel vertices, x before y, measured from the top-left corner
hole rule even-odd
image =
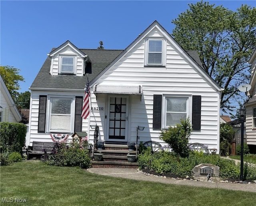
[[[44,151],[46,151],[47,154],[50,154],[55,144],[56,142],[32,142],[32,146],[28,146],[28,150],[26,152],[27,160],[34,156],[42,156]]]

